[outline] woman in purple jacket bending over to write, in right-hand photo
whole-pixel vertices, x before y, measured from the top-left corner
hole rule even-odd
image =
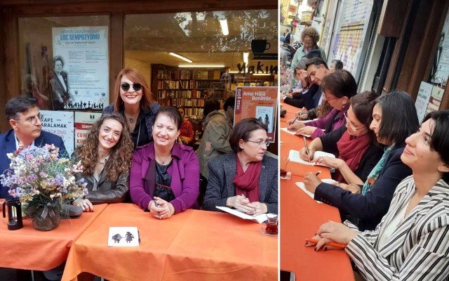
[[[354,77],[347,70],[337,70],[324,77],[321,88],[323,99],[326,98],[333,110],[326,117],[307,123],[295,122],[296,119],[288,120],[289,130],[296,131],[297,135],[311,135],[314,139],[346,124],[344,113],[349,109],[349,99],[357,93]]]

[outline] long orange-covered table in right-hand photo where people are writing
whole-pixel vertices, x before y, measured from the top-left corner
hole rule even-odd
[[[288,111],[281,118],[281,128],[286,120],[293,119],[299,109],[283,104]],[[305,240],[314,236],[322,223],[329,220],[340,222],[337,208],[315,202],[295,184],[302,181],[307,172],[321,170],[319,178],[330,178],[329,169],[322,166],[307,166],[288,162],[290,150],[304,147],[301,136],[293,136],[281,131],[281,168],[292,173],[290,180],[281,180],[281,269],[293,271],[296,280],[354,280],[349,257],[344,251],[314,251],[313,247],[304,247]],[[310,139],[307,140],[310,143]]]

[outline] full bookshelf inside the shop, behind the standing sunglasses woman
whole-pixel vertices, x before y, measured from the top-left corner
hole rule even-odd
[[[225,82],[220,81],[222,70],[188,70],[168,65],[152,65],[152,92],[161,106],[185,106],[186,116],[203,115],[207,93],[225,100]]]

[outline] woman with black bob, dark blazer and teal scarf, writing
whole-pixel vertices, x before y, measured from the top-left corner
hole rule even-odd
[[[387,213],[396,186],[412,171],[401,161],[408,136],[419,129],[415,103],[406,92],[394,91],[375,100],[373,121],[377,143],[384,147],[379,162],[365,183],[337,186],[322,183],[313,173],[304,176],[304,185],[315,200],[340,209],[360,230],[373,230]]]

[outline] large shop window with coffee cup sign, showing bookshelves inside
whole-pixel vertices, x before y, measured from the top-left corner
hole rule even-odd
[[[126,15],[125,67],[144,74],[158,103],[201,119],[206,98],[277,85],[277,30],[277,10]]]

